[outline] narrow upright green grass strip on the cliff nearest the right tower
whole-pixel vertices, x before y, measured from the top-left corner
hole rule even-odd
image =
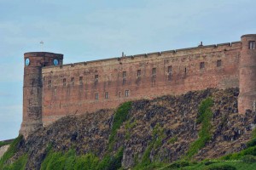
[[[209,141],[212,137],[212,111],[210,109],[212,105],[212,99],[207,98],[203,100],[199,106],[199,116],[197,122],[201,123],[201,130],[199,132],[199,138],[190,144],[186,159],[191,159],[191,157],[194,156],[199,150],[201,150],[201,148],[203,148],[207,141]]]

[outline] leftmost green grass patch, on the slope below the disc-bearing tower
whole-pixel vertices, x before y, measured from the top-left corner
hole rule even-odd
[[[10,165],[7,164],[7,161],[9,161],[9,159],[15,155],[15,153],[18,150],[18,145],[20,144],[20,141],[23,139],[22,136],[19,136],[18,138],[16,138],[9,146],[9,149],[3,154],[3,157],[0,159],[0,169],[6,169],[6,168],[10,168]],[[22,156],[21,156],[22,157]],[[20,165],[20,162],[25,163],[26,161],[26,157],[27,156],[23,156],[23,158],[20,160],[18,159],[17,164]],[[14,164],[14,163],[13,163]],[[26,164],[26,163],[25,163]],[[17,167],[18,165],[14,165],[15,167]],[[14,168],[15,168],[14,167]],[[20,167],[20,169],[22,169],[22,166]]]

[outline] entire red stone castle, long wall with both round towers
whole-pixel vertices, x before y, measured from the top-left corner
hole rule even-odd
[[[241,41],[63,65],[63,54],[24,54],[25,137],[62,116],[206,88],[239,88],[238,112],[255,111],[256,34]]]

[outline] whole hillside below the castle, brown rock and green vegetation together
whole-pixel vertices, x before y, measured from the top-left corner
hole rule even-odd
[[[237,96],[207,89],[63,117],[15,139],[0,169],[248,169],[256,116],[237,113]]]

